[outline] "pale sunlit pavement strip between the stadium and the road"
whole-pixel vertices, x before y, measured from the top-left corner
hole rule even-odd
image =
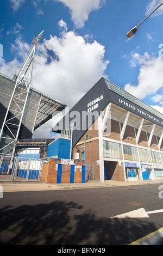
[[[51,190],[72,190],[84,188],[99,188],[99,187],[121,187],[133,185],[147,185],[156,184],[163,185],[163,180],[139,180],[139,181],[87,181],[86,183],[61,183],[61,184],[47,184],[42,182],[28,181],[28,182],[8,182],[0,181],[0,186],[3,187],[3,192],[18,192],[18,191],[51,191]]]

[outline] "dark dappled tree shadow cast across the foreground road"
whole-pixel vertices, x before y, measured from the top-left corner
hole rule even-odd
[[[147,220],[99,218],[91,209],[59,200],[5,206],[0,212],[1,245],[127,245],[154,230]]]

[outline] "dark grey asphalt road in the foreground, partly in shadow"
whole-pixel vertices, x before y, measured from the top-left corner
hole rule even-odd
[[[128,245],[163,227],[160,184],[65,191],[9,192],[0,199],[1,245]]]

